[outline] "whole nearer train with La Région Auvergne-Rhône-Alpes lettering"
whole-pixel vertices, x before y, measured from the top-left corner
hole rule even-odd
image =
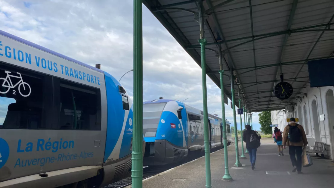
[[[132,101],[97,67],[0,31],[0,187],[100,187],[129,176]]]

